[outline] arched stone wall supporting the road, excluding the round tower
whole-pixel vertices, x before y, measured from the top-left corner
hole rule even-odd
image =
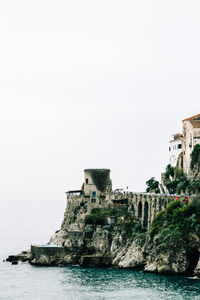
[[[97,196],[97,202],[93,203],[91,199],[87,196],[85,197],[84,194],[78,198],[70,196],[67,208],[68,218],[70,215],[73,215],[77,205],[80,207],[79,215],[82,215],[82,220],[84,220],[85,214],[90,213],[91,209],[94,207],[126,207],[129,213],[136,217],[136,219],[138,219],[144,227],[149,228],[156,214],[161,210],[164,210],[171,201],[176,199],[180,199],[183,202],[185,201],[184,196],[181,197],[155,193],[123,193],[115,191],[106,193],[105,197],[102,199],[100,197],[101,196]],[[66,228],[66,224],[64,227]],[[81,227],[76,228],[76,230],[80,228]],[[70,228],[70,230],[73,229]]]

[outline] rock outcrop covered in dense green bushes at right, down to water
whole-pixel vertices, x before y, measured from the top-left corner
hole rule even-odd
[[[200,199],[191,204],[171,202],[153,220],[146,242],[147,271],[198,274]]]

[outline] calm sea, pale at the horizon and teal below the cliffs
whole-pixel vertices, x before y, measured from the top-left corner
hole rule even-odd
[[[200,280],[188,277],[4,261],[31,244],[47,243],[60,228],[65,205],[65,200],[1,202],[0,300],[200,299]]]

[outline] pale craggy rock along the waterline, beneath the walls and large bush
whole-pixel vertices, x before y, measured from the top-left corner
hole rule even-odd
[[[170,206],[176,210],[177,202],[169,204],[166,210]],[[180,206],[180,209],[183,208]],[[121,210],[115,208],[115,213]],[[197,232],[191,230],[186,240],[184,235],[170,236],[168,233],[166,240],[161,242],[161,230],[153,232],[155,222],[145,231],[137,220],[127,216],[127,219],[124,216],[116,217],[111,224],[108,224],[109,219],[106,217],[105,224],[96,225],[85,224],[87,215],[87,210],[83,215],[83,210],[76,209],[76,205],[67,207],[61,229],[51,237],[48,245],[32,246],[30,251],[9,256],[7,261],[12,264],[29,262],[37,266],[112,267],[200,276],[198,228]]]

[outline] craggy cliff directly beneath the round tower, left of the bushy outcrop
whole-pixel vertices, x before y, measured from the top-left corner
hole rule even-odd
[[[125,208],[87,211],[76,205],[67,207],[61,229],[50,239],[68,249],[64,264],[143,269],[146,232]]]

